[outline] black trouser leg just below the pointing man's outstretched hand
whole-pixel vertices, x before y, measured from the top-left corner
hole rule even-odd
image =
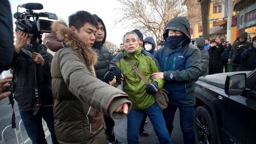
[[[108,138],[108,141],[110,143],[114,142],[115,141],[115,134],[114,134],[114,131],[113,131],[113,127],[115,126],[115,121],[104,115],[104,119],[105,119],[105,122],[106,122],[106,127],[107,127],[107,134],[109,135],[110,138]]]

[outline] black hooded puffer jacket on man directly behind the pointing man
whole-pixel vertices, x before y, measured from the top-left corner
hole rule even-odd
[[[98,57],[99,57],[99,59],[98,59],[99,62],[95,65],[97,78],[100,79],[101,81],[103,81],[103,77],[105,76],[105,74],[107,72],[109,72],[109,65],[110,65],[111,57],[110,57],[109,50],[103,45],[105,43],[106,37],[107,37],[106,27],[105,27],[103,21],[101,20],[101,18],[99,18],[95,14],[93,16],[98,20],[98,22],[101,22],[101,24],[104,27],[104,31],[105,31],[105,35],[104,35],[102,42],[100,44],[94,43],[91,47],[96,51],[96,53],[98,54]],[[108,81],[105,81],[105,82],[109,83]]]

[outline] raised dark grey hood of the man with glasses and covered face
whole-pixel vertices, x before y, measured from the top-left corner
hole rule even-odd
[[[174,30],[179,30],[183,32],[190,40],[190,23],[187,18],[184,17],[176,17],[172,19],[168,25],[165,28],[163,37],[166,39],[168,37],[168,32],[166,31],[167,29],[174,29]]]

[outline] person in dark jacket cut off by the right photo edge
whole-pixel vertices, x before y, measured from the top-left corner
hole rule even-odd
[[[252,39],[252,45],[244,52],[238,49],[234,57],[234,63],[242,63],[238,71],[253,71],[256,68],[256,36]]]

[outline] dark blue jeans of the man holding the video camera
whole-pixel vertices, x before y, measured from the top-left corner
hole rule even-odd
[[[54,114],[53,107],[40,108],[36,116],[33,111],[19,111],[28,137],[32,140],[32,144],[47,144],[46,135],[43,129],[42,118],[47,123],[47,127],[51,132],[52,143],[59,144],[54,130]]]

